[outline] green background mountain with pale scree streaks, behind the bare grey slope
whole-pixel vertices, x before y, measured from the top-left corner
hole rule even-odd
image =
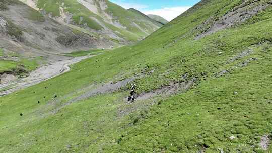
[[[121,44],[140,40],[162,26],[108,0],[21,1],[61,23],[79,26]]]

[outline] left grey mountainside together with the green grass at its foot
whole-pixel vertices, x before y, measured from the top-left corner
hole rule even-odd
[[[1,80],[3,73],[21,75],[44,62],[67,59],[61,53],[116,45],[59,24],[20,1],[0,2]]]

